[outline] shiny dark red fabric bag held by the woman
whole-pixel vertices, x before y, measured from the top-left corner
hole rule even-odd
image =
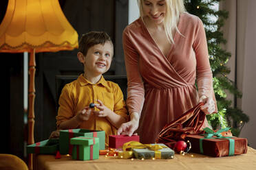
[[[201,127],[206,119],[206,115],[201,110],[203,105],[203,103],[198,104],[182,114],[178,119],[165,125],[158,134],[156,142],[164,143],[173,148],[177,141],[185,141],[187,135],[203,133],[204,131],[201,130]]]

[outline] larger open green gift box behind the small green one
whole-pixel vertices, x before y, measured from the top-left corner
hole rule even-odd
[[[60,153],[61,154],[72,154],[73,146],[70,144],[70,139],[78,136],[84,137],[97,137],[99,138],[100,150],[105,149],[105,131],[100,130],[84,130],[84,129],[73,129],[73,130],[61,130],[60,131]]]

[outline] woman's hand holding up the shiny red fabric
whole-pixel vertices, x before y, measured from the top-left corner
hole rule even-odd
[[[202,106],[201,109],[205,114],[211,114],[215,111],[215,101],[213,98],[202,95],[199,99],[199,103],[200,102],[204,103],[204,106]]]

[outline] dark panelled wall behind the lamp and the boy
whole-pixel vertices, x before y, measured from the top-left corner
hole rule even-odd
[[[128,23],[128,0],[59,0],[61,8],[78,32],[79,38],[86,32],[105,31],[114,42],[114,60],[107,75],[125,75],[122,53],[122,30]],[[0,21],[6,12],[8,1],[0,1]],[[55,130],[56,90],[55,75],[78,75],[83,66],[74,51],[56,53],[36,53],[36,98],[35,142],[43,141]],[[26,125],[23,124],[23,53],[0,53],[4,63],[3,73],[3,108],[1,129],[5,140],[1,153],[15,154],[22,158],[23,141],[27,139]],[[24,130],[25,129],[25,130]]]

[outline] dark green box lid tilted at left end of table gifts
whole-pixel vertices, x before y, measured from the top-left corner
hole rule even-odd
[[[58,151],[58,138],[51,138],[27,146],[28,154],[56,154]]]

